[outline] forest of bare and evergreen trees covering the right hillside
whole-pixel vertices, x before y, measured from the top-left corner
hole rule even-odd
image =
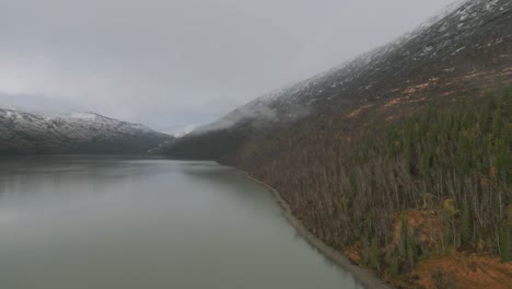
[[[511,261],[512,91],[381,123],[368,122],[372,113],[337,134],[304,119],[301,130],[247,141],[235,159],[314,234],[360,248],[359,261],[389,280],[412,285],[421,259],[452,247]]]

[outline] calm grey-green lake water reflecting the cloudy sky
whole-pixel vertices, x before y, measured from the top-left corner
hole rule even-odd
[[[361,288],[209,162],[0,159],[2,289]]]

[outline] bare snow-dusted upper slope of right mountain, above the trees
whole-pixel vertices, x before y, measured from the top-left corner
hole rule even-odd
[[[201,157],[219,158],[235,153],[228,148],[261,138],[263,131],[277,135],[269,132],[276,127],[298,129],[298,122],[331,126],[368,107],[381,107],[391,116],[432,97],[474,94],[511,82],[512,1],[458,1],[387,45],[199,127],[174,141],[168,153],[196,158],[200,151]],[[217,139],[221,147],[221,136],[225,149],[206,153],[201,143]]]

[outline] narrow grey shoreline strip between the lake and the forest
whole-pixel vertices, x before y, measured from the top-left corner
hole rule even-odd
[[[279,204],[279,207],[282,209],[282,215],[284,218],[288,220],[288,222],[295,228],[295,230],[299,232],[299,234],[305,239],[307,243],[310,243],[312,246],[314,246],[316,250],[318,250],[324,256],[333,261],[335,264],[340,266],[344,270],[349,271],[352,274],[352,276],[356,278],[356,280],[361,284],[364,288],[366,289],[391,289],[392,287],[381,278],[379,278],[374,273],[360,267],[356,264],[353,264],[347,255],[345,255],[341,252],[338,252],[327,244],[324,243],[321,239],[315,236],[313,233],[311,233],[303,224],[302,222],[295,218],[293,215],[290,205],[281,197],[279,192],[275,189],[274,187],[269,186],[268,184],[254,178],[251,176],[247,172],[242,171],[244,173],[245,177],[248,180],[256,182],[264,187],[266,187],[270,193],[272,193],[274,197],[276,198],[277,203]]]

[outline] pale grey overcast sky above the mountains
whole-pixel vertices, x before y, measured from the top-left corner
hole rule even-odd
[[[0,106],[172,132],[393,41],[453,0],[0,0]]]

